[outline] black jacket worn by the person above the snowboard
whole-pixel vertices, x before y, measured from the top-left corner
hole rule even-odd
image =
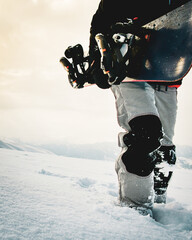
[[[101,0],[93,15],[90,33],[107,33],[110,26],[127,18],[137,17],[137,24],[144,25],[190,0]]]

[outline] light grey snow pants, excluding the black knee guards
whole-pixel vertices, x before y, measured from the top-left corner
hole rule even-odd
[[[155,115],[161,120],[164,137],[163,146],[172,146],[177,112],[177,89],[148,84],[146,82],[121,83],[111,87],[116,99],[117,118],[125,133],[119,134],[122,152],[116,161],[119,181],[119,197],[131,206],[152,207],[154,201],[153,173],[141,177],[129,173],[121,159],[127,150],[122,137],[131,128],[129,122],[135,117]]]

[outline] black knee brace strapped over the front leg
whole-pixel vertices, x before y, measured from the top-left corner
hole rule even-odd
[[[139,176],[149,175],[155,167],[155,154],[163,137],[160,119],[154,115],[134,118],[129,123],[131,131],[123,138],[127,151],[122,161],[128,172]]]

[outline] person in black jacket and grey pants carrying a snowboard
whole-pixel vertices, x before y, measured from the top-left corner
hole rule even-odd
[[[185,2],[101,0],[91,21],[90,57],[96,57],[96,34],[107,35],[113,24],[132,19],[143,26]],[[154,202],[166,202],[171,167],[176,162],[173,136],[181,82],[126,82],[111,87],[118,123],[125,130],[118,136],[122,152],[115,167],[119,199],[130,207],[151,209]]]

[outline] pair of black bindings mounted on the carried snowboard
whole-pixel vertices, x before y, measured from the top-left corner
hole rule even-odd
[[[65,56],[60,59],[73,88],[83,88],[95,83],[98,87],[106,89],[120,84],[126,77],[129,50],[134,35],[114,33],[109,43],[103,34],[97,34],[95,40],[98,45],[95,59],[91,59],[90,56],[84,57],[80,44],[68,47],[64,52]]]

